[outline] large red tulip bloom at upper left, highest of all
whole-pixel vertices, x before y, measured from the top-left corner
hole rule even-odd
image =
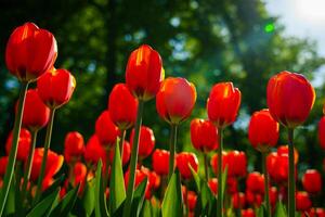
[[[18,26],[10,36],[5,63],[20,80],[34,81],[53,67],[57,55],[54,36],[34,23]]]

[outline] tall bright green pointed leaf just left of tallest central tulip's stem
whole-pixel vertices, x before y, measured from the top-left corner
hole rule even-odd
[[[120,161],[119,145],[115,145],[115,155],[112,165],[109,182],[109,212],[113,214],[126,199],[122,164]]]

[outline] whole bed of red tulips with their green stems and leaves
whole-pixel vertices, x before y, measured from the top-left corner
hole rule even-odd
[[[67,69],[54,68],[56,55],[53,35],[32,23],[10,36],[5,62],[22,87],[14,129],[5,144],[8,156],[0,158],[0,216],[12,214],[8,208],[12,196],[20,201],[14,213],[28,216],[76,215],[76,210],[126,217],[291,217],[297,212],[325,216],[324,207],[316,207],[322,196],[320,171],[308,169],[301,179],[303,191],[296,188],[299,152],[294,148],[294,130],[315,101],[314,89],[302,75],[282,72],[271,77],[269,108],[253,113],[248,126],[248,139],[261,152],[263,170],[248,173],[245,152],[223,150],[223,131],[236,119],[240,91],[232,82],[216,84],[207,100],[208,119],[192,119],[191,141],[204,159],[199,167],[195,153],[176,152],[178,128],[194,108],[195,86],[185,78],[165,79],[159,53],[145,44],[130,54],[126,84],[113,88],[93,136],[84,142],[81,133],[68,132],[64,154],[51,151],[55,111],[69,101],[76,87]],[[28,89],[34,81],[37,88]],[[155,149],[154,131],[142,125],[145,102],[155,97],[158,115],[170,125],[168,151]],[[288,145],[275,150],[280,124],[288,131]],[[36,148],[37,133],[46,126],[44,145]],[[325,149],[325,117],[318,135]],[[151,168],[143,164],[147,157]],[[67,173],[60,176],[64,162]],[[77,203],[83,209],[75,208]]]

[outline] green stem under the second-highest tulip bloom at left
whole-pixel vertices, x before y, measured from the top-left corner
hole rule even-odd
[[[41,170],[40,170],[40,174],[39,174],[39,177],[38,177],[36,195],[35,195],[35,199],[34,199],[34,206],[39,202],[40,195],[41,195],[42,182],[43,182],[43,178],[44,178],[44,175],[46,175],[46,166],[47,166],[47,161],[48,161],[48,152],[49,152],[50,144],[51,144],[54,114],[55,114],[55,108],[51,108],[50,120],[49,120],[49,125],[48,125],[48,128],[47,128],[44,153],[43,153],[43,158],[42,158],[42,164],[41,164]]]

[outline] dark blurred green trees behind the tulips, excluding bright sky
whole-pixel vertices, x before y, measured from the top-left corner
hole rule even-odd
[[[68,131],[78,130],[86,140],[90,138],[114,84],[125,81],[130,52],[142,43],[160,53],[166,77],[181,76],[195,84],[198,98],[190,119],[207,117],[206,100],[213,84],[231,80],[240,89],[238,120],[225,130],[224,146],[245,150],[249,170],[260,170],[261,161],[249,145],[247,125],[252,112],[266,106],[269,78],[287,69],[311,80],[323,79],[316,69],[325,59],[317,54],[316,44],[284,37],[285,26],[268,14],[260,0],[6,0],[0,3],[0,14],[1,155],[13,126],[18,91],[16,78],[6,71],[4,50],[12,30],[25,22],[54,34],[58,46],[55,66],[69,69],[77,79],[72,101],[56,113],[51,144],[55,151],[62,151]],[[324,84],[316,93],[308,122],[296,130],[299,177],[307,168],[322,170],[324,152],[316,125],[322,117]],[[154,129],[156,145],[168,149],[169,128],[158,117],[154,100],[145,105],[143,123]],[[178,151],[192,150],[188,125],[187,120],[180,127]],[[287,132],[281,130],[278,144],[285,144]],[[42,145],[44,130],[40,135],[38,145]]]

